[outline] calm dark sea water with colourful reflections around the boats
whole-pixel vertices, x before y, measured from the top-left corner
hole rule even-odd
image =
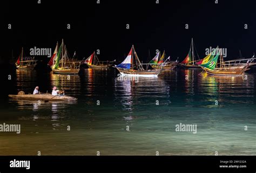
[[[21,124],[21,134],[0,132],[0,155],[256,155],[254,73],[246,80],[177,69],[136,82],[119,81],[115,69],[83,70],[70,80],[17,70],[2,93],[0,124]],[[6,97],[37,85],[78,100],[38,105]],[[197,133],[176,132],[180,123],[197,125]]]

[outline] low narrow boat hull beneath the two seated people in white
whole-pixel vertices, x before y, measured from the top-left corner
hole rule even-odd
[[[39,95],[8,95],[10,98],[18,98],[18,99],[25,99],[25,100],[52,100],[52,101],[70,101],[70,100],[77,100],[75,97],[71,96],[52,96],[48,93],[39,94]]]

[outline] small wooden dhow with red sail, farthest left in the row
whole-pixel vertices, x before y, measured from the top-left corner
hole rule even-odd
[[[35,60],[35,57],[25,57],[24,49],[22,48],[22,52],[19,54],[15,63],[16,68],[19,70],[33,70],[36,67],[36,64],[37,60]]]

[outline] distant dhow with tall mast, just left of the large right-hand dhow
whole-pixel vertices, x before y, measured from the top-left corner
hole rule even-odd
[[[188,69],[200,69],[200,67],[197,64],[197,62],[199,62],[200,59],[199,59],[198,54],[197,54],[198,59],[197,60],[195,59],[194,48],[196,49],[196,47],[194,46],[193,38],[192,38],[191,45],[190,45],[190,51],[188,52],[185,59],[179,63],[180,67],[184,67],[184,68],[188,68]]]

